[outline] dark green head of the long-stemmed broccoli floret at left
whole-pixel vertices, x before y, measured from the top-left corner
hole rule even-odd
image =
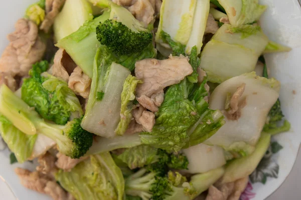
[[[83,156],[93,143],[93,134],[81,127],[81,118],[75,118],[69,121],[64,128],[64,136],[67,136],[72,144],[69,148],[68,155],[71,158]],[[64,146],[64,148],[69,146]]]

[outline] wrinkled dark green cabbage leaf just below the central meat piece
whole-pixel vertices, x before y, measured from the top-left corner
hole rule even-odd
[[[205,83],[206,80],[201,85],[193,84],[185,78],[170,86],[153,131],[140,133],[142,143],[179,151],[214,134],[224,124],[223,115],[208,108],[204,99],[208,95]],[[211,123],[205,121],[209,119]]]

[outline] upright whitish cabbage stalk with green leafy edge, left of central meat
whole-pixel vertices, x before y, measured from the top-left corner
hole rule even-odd
[[[82,127],[94,134],[113,137],[120,121],[121,92],[123,82],[130,71],[114,61],[114,57],[103,46],[95,55],[93,78]],[[97,92],[103,92],[101,101]]]

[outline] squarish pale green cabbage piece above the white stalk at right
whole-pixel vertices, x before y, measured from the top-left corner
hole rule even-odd
[[[268,42],[258,25],[222,25],[201,53],[208,81],[221,83],[251,72]],[[222,66],[222,67],[221,67]]]

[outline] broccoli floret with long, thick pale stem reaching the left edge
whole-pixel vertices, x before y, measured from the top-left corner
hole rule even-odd
[[[59,151],[71,158],[83,156],[92,145],[93,134],[81,127],[82,118],[74,118],[66,125],[46,122],[5,84],[0,87],[0,110],[22,132],[48,136],[56,141]]]

